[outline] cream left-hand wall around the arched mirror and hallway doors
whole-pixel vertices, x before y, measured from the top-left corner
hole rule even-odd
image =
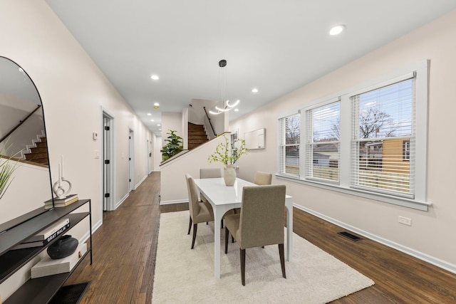
[[[101,107],[114,116],[117,202],[129,193],[128,130],[135,131],[137,181],[147,176],[145,145],[149,131],[45,1],[1,0],[0,37],[0,56],[11,58],[26,70],[43,100],[53,180],[58,177],[57,166],[63,155],[65,177],[80,198],[92,199],[93,225],[100,225],[101,158],[95,158],[95,152],[102,150],[102,143],[93,140],[92,133],[102,133]],[[81,225],[71,231],[73,236],[87,233],[88,226]],[[24,273],[24,277],[27,275]],[[0,285],[2,300],[14,285]]]

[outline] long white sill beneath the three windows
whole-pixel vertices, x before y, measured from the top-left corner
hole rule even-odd
[[[299,184],[305,184],[311,187],[318,187],[321,189],[327,189],[331,191],[341,192],[343,194],[350,194],[354,196],[361,196],[366,199],[373,199],[375,201],[382,201],[388,204],[394,204],[398,206],[404,206],[411,209],[417,209],[421,211],[427,211],[432,203],[427,201],[418,201],[416,199],[406,199],[396,196],[390,196],[388,194],[380,194],[374,192],[367,192],[361,189],[344,188],[338,185],[323,184],[321,182],[310,181],[306,179],[300,179],[299,177],[292,177],[290,175],[275,174],[278,179],[285,179],[289,182],[297,182]]]

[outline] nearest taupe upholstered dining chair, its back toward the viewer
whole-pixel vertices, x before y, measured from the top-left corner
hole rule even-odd
[[[285,185],[244,187],[241,213],[225,216],[225,253],[231,233],[239,246],[242,285],[245,285],[245,250],[253,247],[278,244],[282,276],[286,278],[284,216]]]

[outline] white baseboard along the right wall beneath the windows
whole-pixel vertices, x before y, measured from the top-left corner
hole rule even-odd
[[[299,205],[296,205],[296,204],[293,204],[294,207],[296,207],[296,209],[300,209],[304,212],[307,212],[309,214],[312,214],[320,219],[323,219],[325,221],[328,221],[330,222],[331,224],[335,224],[337,226],[340,226],[344,229],[348,229],[350,231],[353,231],[355,232],[356,234],[359,234],[361,236],[364,236],[366,239],[371,239],[373,241],[376,241],[378,243],[381,243],[385,246],[388,246],[390,248],[393,248],[393,249],[396,249],[400,252],[403,252],[405,254],[408,254],[409,256],[413,256],[415,258],[419,258],[421,261],[425,261],[427,263],[430,263],[434,266],[437,266],[439,268],[442,268],[442,269],[445,269],[445,271],[450,271],[450,273],[455,273],[456,274],[456,265],[455,264],[452,264],[452,263],[448,263],[447,261],[443,261],[441,260],[440,258],[435,258],[434,256],[430,256],[426,253],[423,253],[423,252],[420,252],[420,251],[416,251],[415,249],[413,248],[408,248],[407,246],[403,246],[403,245],[400,245],[399,243],[395,243],[393,241],[390,241],[388,239],[383,239],[382,237],[380,236],[376,236],[375,234],[370,234],[368,233],[367,231],[363,231],[361,229],[358,229],[354,226],[351,226],[351,225],[348,225],[346,223],[343,223],[342,221],[338,221],[336,219],[333,219],[329,216],[326,216],[324,214],[321,214],[321,213],[318,213],[314,210],[311,210],[311,209],[308,209],[306,207],[303,207],[303,206],[299,206]]]

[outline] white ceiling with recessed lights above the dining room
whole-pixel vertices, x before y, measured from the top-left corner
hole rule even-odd
[[[456,9],[455,0],[46,1],[157,134],[161,112],[220,100],[221,59],[227,98],[241,100],[233,120]],[[337,24],[346,31],[330,36]]]

